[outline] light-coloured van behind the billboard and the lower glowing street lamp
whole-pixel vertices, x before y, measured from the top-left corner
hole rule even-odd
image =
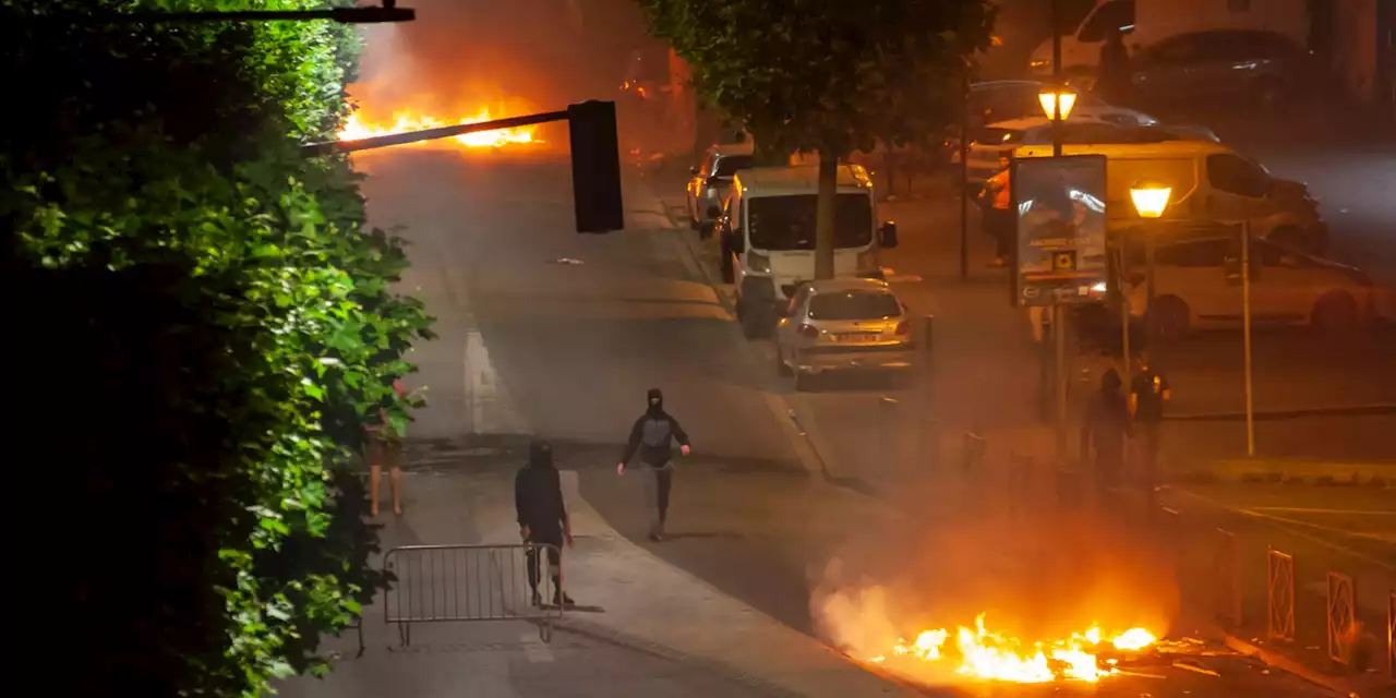
[[[1025,145],[1015,158],[1050,158],[1051,145]],[[1272,177],[1259,163],[1212,141],[1068,144],[1062,155],[1106,156],[1110,230],[1143,225],[1129,190],[1141,181],[1168,184],[1161,221],[1167,237],[1216,236],[1222,222],[1249,221],[1251,235],[1308,253],[1322,251],[1328,226],[1302,183]]]

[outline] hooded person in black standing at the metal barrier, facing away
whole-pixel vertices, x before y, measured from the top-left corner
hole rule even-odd
[[[526,556],[528,585],[533,591],[533,606],[543,604],[537,585],[542,582],[539,551],[547,550],[547,565],[553,572],[553,606],[571,606],[572,597],[563,592],[563,543],[572,546],[572,522],[563,501],[563,479],[553,465],[553,445],[540,438],[529,444],[528,465],[514,476],[514,510],[518,512],[519,537],[535,543]]]

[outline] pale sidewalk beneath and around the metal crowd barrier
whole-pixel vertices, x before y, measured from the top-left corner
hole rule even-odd
[[[564,551],[564,588],[603,610],[565,613],[550,645],[533,625],[505,621],[415,624],[412,646],[401,649],[380,597],[364,609],[363,658],[342,660],[325,680],[289,681],[282,694],[912,695],[627,542],[578,483],[577,472],[563,472],[577,539]],[[384,549],[518,539],[512,469],[417,470],[405,487],[406,512],[384,528]],[[332,642],[352,656],[352,638]]]

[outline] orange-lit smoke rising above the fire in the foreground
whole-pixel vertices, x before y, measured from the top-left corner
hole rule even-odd
[[[1156,542],[1092,514],[1025,510],[983,484],[923,490],[926,501],[944,508],[927,505],[916,519],[864,530],[812,568],[810,613],[821,639],[867,660],[927,630],[953,637],[980,613],[991,631],[1029,642],[1097,624],[1107,634],[1168,631],[1178,589],[1173,561]],[[945,664],[886,667],[924,683],[953,680]]]

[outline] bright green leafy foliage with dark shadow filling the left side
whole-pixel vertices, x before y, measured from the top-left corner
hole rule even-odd
[[[355,454],[420,405],[391,383],[430,318],[348,159],[297,152],[345,119],[356,39],[105,15],[321,4],[0,0],[8,426],[64,533],[27,556],[47,692],[257,695],[384,584]]]

